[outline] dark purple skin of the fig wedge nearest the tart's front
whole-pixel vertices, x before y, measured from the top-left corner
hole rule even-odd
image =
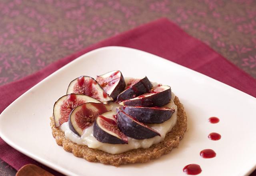
[[[128,142],[125,142],[116,136],[112,136],[111,134],[105,132],[100,128],[98,125],[97,121],[94,122],[93,126],[93,136],[96,138],[98,141],[102,143],[108,143],[108,144],[128,144]]]

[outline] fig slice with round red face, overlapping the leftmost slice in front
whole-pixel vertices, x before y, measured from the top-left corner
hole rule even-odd
[[[103,103],[84,103],[72,110],[68,118],[68,126],[72,132],[81,136],[83,130],[91,126],[99,114],[108,112],[113,106]]]

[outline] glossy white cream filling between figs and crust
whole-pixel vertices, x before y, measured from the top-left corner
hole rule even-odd
[[[153,84],[155,85],[155,84]],[[118,154],[122,152],[126,152],[128,150],[136,149],[136,148],[149,148],[153,144],[159,143],[164,140],[166,133],[170,132],[170,130],[174,127],[177,120],[177,106],[174,104],[175,95],[172,93],[172,99],[169,104],[166,104],[165,107],[174,108],[175,112],[172,114],[172,117],[169,120],[166,120],[162,124],[147,124],[154,130],[160,133],[161,136],[155,136],[149,139],[137,140],[134,138],[128,137],[128,144],[107,144],[102,143],[96,140],[92,134],[93,125],[86,128],[81,137],[72,132],[68,127],[68,122],[63,123],[60,126],[60,130],[65,132],[65,136],[70,139],[72,142],[75,142],[79,145],[86,145],[89,148],[96,148],[98,150],[102,150],[104,152],[108,152],[110,154]],[[113,107],[112,114],[116,114],[116,107],[118,104]],[[111,114],[110,113],[110,114]]]

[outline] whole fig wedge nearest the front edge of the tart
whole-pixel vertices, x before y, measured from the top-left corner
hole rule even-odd
[[[96,118],[93,126],[93,136],[102,143],[128,144],[127,136],[118,129],[116,122],[106,118],[104,114]]]

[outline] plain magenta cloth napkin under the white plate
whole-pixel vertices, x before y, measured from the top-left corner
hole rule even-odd
[[[0,102],[0,112],[26,92],[26,90],[46,78],[52,72],[78,56],[104,46],[125,46],[156,54],[256,97],[256,80],[254,78],[234,66],[203,42],[189,36],[168,19],[162,18],[103,40],[71,56],[62,58],[30,76],[1,86],[0,97],[2,101]],[[0,148],[0,158],[17,170],[25,164],[38,164],[36,161],[10,147],[1,138]],[[41,164],[39,165],[44,167]]]

